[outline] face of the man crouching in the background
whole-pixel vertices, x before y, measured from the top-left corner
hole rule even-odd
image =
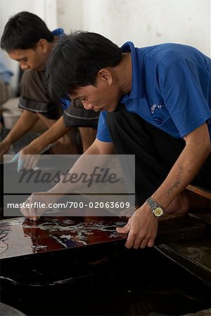
[[[14,49],[8,55],[19,62],[22,70],[43,70],[46,66],[46,53],[39,46],[33,49]]]

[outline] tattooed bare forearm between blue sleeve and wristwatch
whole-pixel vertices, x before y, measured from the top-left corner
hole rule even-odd
[[[165,181],[153,194],[153,199],[164,209],[196,177],[211,151],[207,123],[184,137],[186,146],[179,155]]]

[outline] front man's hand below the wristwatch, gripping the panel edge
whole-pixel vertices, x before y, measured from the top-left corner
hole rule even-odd
[[[117,232],[127,234],[127,248],[143,249],[146,246],[154,245],[155,237],[158,233],[158,218],[153,215],[148,203],[144,203],[129,218],[127,225],[123,228],[117,228]]]

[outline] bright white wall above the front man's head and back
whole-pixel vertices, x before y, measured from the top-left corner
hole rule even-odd
[[[210,55],[210,0],[57,0],[58,25],[98,32],[118,45],[163,42]]]

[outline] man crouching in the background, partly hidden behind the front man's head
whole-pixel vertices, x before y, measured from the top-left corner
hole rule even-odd
[[[18,13],[8,20],[1,37],[1,48],[6,50],[13,60],[17,60],[21,69],[24,70],[19,100],[19,107],[23,109],[23,114],[8,136],[1,142],[0,155],[6,153],[15,140],[30,131],[38,119],[41,119],[49,130],[20,151],[19,162],[23,154],[39,154],[46,145],[54,142],[56,143],[51,149],[52,153],[78,153],[74,139],[74,130],[77,127],[86,129],[84,149],[93,142],[98,121],[96,113],[89,112],[88,117],[91,119],[84,119],[82,121],[85,121],[86,124],[77,125],[74,119],[77,109],[75,110],[74,105],[70,106],[69,100],[60,102],[61,106],[56,105],[52,103],[47,92],[44,78],[46,61],[53,44],[63,34],[63,29],[50,32],[43,20],[29,12]],[[72,117],[68,119],[66,118],[67,114],[64,113],[65,119],[63,119],[63,108],[68,109],[69,106],[68,111]],[[82,105],[80,106],[82,107]],[[82,119],[87,115],[87,112],[82,108],[80,113]],[[57,131],[55,131],[54,124],[58,120]],[[24,166],[24,164],[22,165]],[[30,165],[27,164],[27,166]]]

